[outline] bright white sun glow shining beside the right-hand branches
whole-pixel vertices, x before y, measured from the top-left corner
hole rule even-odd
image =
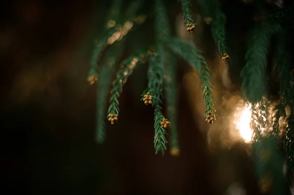
[[[251,121],[251,105],[245,105],[244,108],[239,108],[234,114],[234,124],[239,130],[240,136],[245,142],[250,142],[252,139],[252,129],[250,128]]]

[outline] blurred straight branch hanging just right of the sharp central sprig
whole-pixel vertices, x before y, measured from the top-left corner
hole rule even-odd
[[[176,123],[176,60],[172,56],[169,49],[165,49],[162,53],[162,64],[165,70],[165,99],[167,104],[167,116],[172,123],[170,132],[170,147],[179,149],[178,132]]]

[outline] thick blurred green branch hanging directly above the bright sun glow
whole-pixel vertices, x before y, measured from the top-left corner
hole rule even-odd
[[[279,27],[271,21],[262,24],[261,28],[257,29],[245,55],[247,63],[241,71],[243,78],[241,89],[245,99],[251,103],[261,101],[266,93],[265,79],[270,37]]]

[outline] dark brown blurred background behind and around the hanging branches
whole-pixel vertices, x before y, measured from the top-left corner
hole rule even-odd
[[[245,55],[243,32],[258,19],[250,1],[224,3],[224,12],[230,14],[228,34],[237,40],[228,45],[235,44],[234,51]],[[147,64],[138,65],[124,86],[119,123],[107,123],[106,142],[95,143],[96,87],[89,86],[87,76],[111,1],[0,2],[1,194],[222,195],[235,183],[248,195],[259,194],[250,146],[240,135],[231,135],[233,123],[227,123],[241,100],[238,67],[244,62],[235,61],[239,66],[233,66],[237,73],[231,75],[197,8],[192,37],[185,31],[179,4],[166,4],[173,35],[194,39],[212,67],[220,115],[213,126],[205,123],[199,78],[179,60],[179,158],[169,152],[155,155],[153,111],[140,102]],[[122,59],[154,44],[152,6],[146,1],[140,10],[146,20],[129,32]]]

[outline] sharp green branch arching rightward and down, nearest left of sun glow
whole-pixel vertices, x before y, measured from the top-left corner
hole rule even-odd
[[[172,39],[168,42],[168,46],[171,50],[177,55],[181,56],[186,60],[189,65],[191,65],[194,70],[198,73],[201,81],[204,106],[206,111],[204,116],[207,115],[207,112],[210,111],[212,114],[215,114],[215,108],[213,106],[215,100],[212,95],[212,82],[210,78],[209,67],[203,58],[201,52],[197,48],[190,44],[183,42],[179,39]]]

